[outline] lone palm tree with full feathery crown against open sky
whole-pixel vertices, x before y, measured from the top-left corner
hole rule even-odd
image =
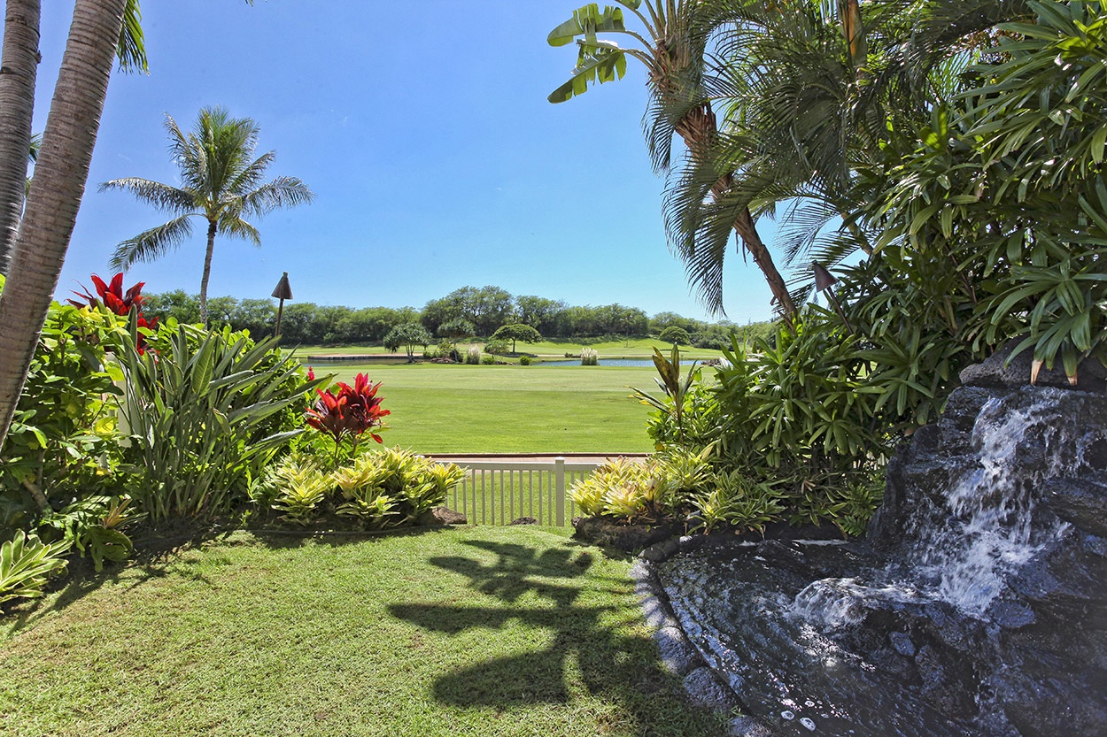
[[[127,269],[136,261],[161,258],[193,232],[192,218],[207,220],[207,251],[200,278],[200,319],[207,324],[207,288],[216,233],[245,238],[261,246],[257,228],[246,217],[261,217],[282,207],[310,203],[314,195],[296,177],[262,183],[275,152],[252,158],[260,127],[248,118],[232,118],[223,107],[200,111],[192,133],[184,133],[166,115],[173,142],[169,150],[180,167],[182,186],[131,177],[100,185],[100,191],[124,189],[175,217],[121,242],[112,267]]]

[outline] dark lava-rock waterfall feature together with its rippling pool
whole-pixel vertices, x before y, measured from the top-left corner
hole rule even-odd
[[[1107,735],[1104,372],[1031,386],[1020,359],[962,374],[861,543],[649,557],[744,712],[789,737],[805,715],[858,737]]]

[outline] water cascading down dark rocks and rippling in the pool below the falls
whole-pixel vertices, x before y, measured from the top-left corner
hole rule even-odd
[[[1053,391],[1042,397],[983,406],[976,457],[944,494],[914,500],[891,556],[770,540],[659,567],[689,639],[755,716],[782,734],[1020,734],[985,683],[996,619],[1033,621],[1006,583],[1065,536],[1053,517],[1032,526],[1035,499],[1044,478],[1080,467],[1086,442],[1064,429]],[[1027,456],[1031,436],[1044,457]]]

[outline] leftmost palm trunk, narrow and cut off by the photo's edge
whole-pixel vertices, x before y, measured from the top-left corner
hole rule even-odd
[[[39,68],[39,0],[8,0],[0,55],[0,273],[19,236]]]

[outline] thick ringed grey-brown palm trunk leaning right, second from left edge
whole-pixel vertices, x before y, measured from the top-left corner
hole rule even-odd
[[[0,293],[0,447],[81,207],[125,4],[126,0],[76,0],[73,8],[34,180]]]

